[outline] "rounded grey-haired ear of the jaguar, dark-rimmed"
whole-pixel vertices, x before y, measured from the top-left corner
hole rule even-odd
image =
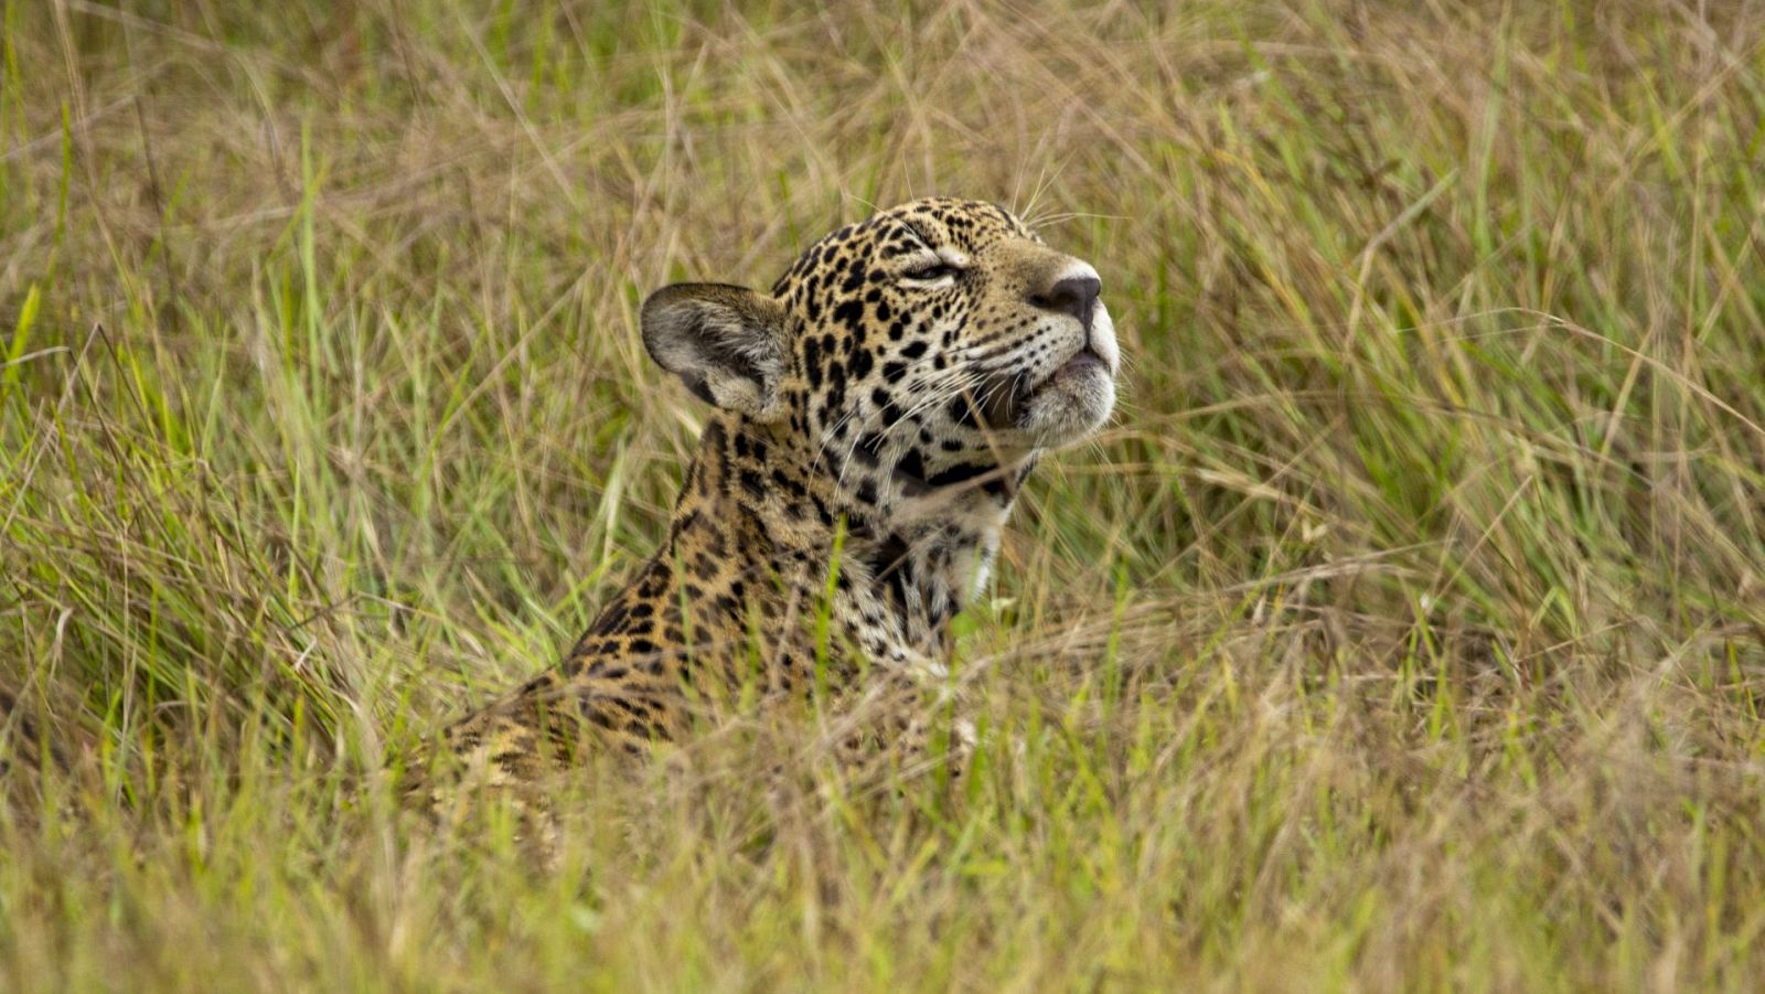
[[[745,286],[676,282],[644,300],[650,358],[725,411],[775,420],[785,369],[784,304]]]

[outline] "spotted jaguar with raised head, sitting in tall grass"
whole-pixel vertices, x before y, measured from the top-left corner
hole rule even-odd
[[[738,692],[801,696],[817,660],[835,685],[935,664],[1036,457],[1114,406],[1100,290],[1006,210],[920,200],[821,238],[770,293],[651,295],[644,346],[717,408],[667,540],[439,752],[531,786],[584,747],[680,740]]]

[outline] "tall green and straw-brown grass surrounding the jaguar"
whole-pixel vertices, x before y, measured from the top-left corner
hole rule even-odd
[[[5,0],[0,987],[1753,989],[1765,9],[1161,11]],[[395,817],[662,531],[641,297],[934,191],[1130,357],[969,775]]]

